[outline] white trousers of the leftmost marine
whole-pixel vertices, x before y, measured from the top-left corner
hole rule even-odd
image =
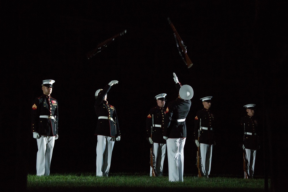
[[[55,136],[41,136],[37,140],[38,152],[36,159],[37,176],[48,176],[55,143]]]

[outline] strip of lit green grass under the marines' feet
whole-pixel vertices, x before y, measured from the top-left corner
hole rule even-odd
[[[141,173],[117,173],[96,177],[94,173],[27,176],[28,191],[265,191],[264,178],[227,176],[198,178],[184,176],[184,182],[169,182],[168,175],[150,177]]]

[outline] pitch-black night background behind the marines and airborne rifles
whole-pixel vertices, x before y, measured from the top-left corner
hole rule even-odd
[[[281,154],[287,152],[286,2],[11,1],[3,8],[1,149],[7,152],[4,165],[10,165],[5,168],[13,178],[36,174],[30,110],[44,79],[56,81],[51,96],[59,104],[52,174],[96,171],[94,93],[111,80],[119,81],[107,100],[117,110],[121,140],[115,142],[110,172],[148,174],[145,119],[156,106],[154,96],[166,93],[166,105],[177,97],[173,72],[194,90],[186,118],[184,174],[197,174],[194,117],[205,96],[213,96],[211,110],[217,119],[212,176],[242,175],[239,124],[243,106],[251,103],[263,136],[255,176],[266,170],[276,178],[287,171],[287,165],[281,167]],[[181,60],[167,17],[187,46],[194,63],[190,69]],[[87,59],[98,43],[124,30]],[[167,174],[167,159],[164,164]]]

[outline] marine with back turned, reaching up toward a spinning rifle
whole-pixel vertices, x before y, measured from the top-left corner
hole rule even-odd
[[[184,171],[184,145],[186,140],[185,119],[191,107],[190,99],[193,89],[189,85],[181,85],[175,73],[174,81],[179,96],[170,101],[164,119],[163,138],[167,140],[169,181],[182,181]]]

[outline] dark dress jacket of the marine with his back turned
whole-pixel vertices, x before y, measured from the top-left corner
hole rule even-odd
[[[179,92],[180,83],[176,83],[176,88]],[[177,119],[186,119],[191,107],[191,100],[183,100],[177,98],[170,101],[166,109],[164,119],[163,136],[168,138],[186,138],[186,123],[185,121],[177,122]]]

